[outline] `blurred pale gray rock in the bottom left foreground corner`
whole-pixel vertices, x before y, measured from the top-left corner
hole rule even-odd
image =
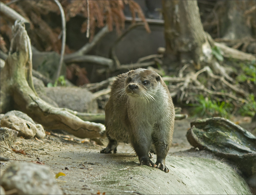
[[[15,194],[62,194],[48,167],[35,163],[14,162],[1,176],[1,186],[16,189]]]

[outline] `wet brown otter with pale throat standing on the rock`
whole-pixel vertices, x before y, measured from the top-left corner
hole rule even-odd
[[[118,75],[105,106],[109,143],[100,153],[116,153],[119,142],[131,143],[141,165],[165,172],[165,158],[172,144],[174,105],[161,76],[138,68]],[[152,153],[157,155],[153,163]]]

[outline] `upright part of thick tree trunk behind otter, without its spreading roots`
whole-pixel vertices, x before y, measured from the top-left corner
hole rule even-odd
[[[197,1],[162,1],[166,39],[166,59],[193,60],[200,69],[202,45],[207,36],[203,29]],[[175,68],[175,67],[174,67]]]

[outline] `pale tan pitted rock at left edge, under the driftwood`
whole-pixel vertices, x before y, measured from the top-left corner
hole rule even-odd
[[[14,129],[19,132],[18,136],[33,138],[36,135],[36,125],[17,116],[4,116],[1,126]]]

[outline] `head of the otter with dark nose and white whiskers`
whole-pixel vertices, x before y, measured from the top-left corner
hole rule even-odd
[[[155,100],[154,96],[161,85],[161,77],[154,71],[138,68],[131,70],[125,80],[125,93],[145,102]]]

